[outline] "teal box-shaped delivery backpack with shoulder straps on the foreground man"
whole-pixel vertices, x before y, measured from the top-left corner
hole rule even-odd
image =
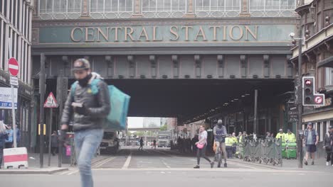
[[[90,89],[93,95],[98,94],[98,82],[102,81],[101,79],[93,79],[90,82]],[[70,86],[70,97],[72,101],[74,100],[75,89],[78,85],[78,81],[75,81],[72,86]],[[105,120],[104,128],[105,129],[114,129],[114,130],[125,130],[127,113],[129,108],[129,99],[131,98],[127,94],[123,93],[115,86],[107,86],[109,89],[110,105],[111,111],[107,115],[107,120]]]

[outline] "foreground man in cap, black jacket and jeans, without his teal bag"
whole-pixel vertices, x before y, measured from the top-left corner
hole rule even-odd
[[[88,60],[75,60],[73,72],[77,81],[72,84],[65,102],[59,140],[65,140],[73,115],[75,152],[81,186],[93,187],[91,160],[102,141],[102,126],[111,110],[110,96],[107,84],[91,72]]]

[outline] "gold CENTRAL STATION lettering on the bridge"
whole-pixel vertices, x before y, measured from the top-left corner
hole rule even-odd
[[[70,32],[73,42],[248,41],[257,38],[258,26],[77,27]]]

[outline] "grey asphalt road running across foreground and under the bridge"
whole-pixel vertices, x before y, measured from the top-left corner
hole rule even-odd
[[[202,160],[193,169],[195,157],[181,156],[165,149],[125,149],[93,165],[95,186],[332,186],[327,171],[269,169],[228,162],[228,168],[211,169]],[[333,167],[332,167],[333,171]],[[80,186],[75,168],[53,175],[0,175],[1,186]]]

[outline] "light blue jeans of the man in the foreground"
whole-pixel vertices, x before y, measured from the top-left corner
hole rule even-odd
[[[93,187],[93,174],[91,172],[91,160],[103,137],[103,130],[83,130],[75,132],[74,143],[76,159],[81,176],[81,186]]]

